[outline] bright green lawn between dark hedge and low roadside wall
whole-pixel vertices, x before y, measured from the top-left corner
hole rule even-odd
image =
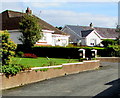
[[[12,64],[28,65],[30,67],[42,67],[50,65],[60,65],[63,63],[79,62],[78,59],[64,59],[64,58],[12,58]]]

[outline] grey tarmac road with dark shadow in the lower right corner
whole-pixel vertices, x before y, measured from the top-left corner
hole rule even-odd
[[[3,96],[113,96],[118,94],[118,63],[3,91]]]

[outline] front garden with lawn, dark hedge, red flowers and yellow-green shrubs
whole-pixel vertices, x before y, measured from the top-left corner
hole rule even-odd
[[[43,67],[61,65],[63,63],[74,63],[82,61],[79,57],[79,49],[85,49],[85,57],[91,55],[91,50],[98,50],[99,56],[108,54],[119,56],[119,47],[36,47],[28,49],[17,46],[9,38],[9,33],[3,31],[2,37],[2,66],[0,72],[6,75],[15,75],[20,71],[29,70],[31,67]],[[114,45],[116,46],[116,45]]]

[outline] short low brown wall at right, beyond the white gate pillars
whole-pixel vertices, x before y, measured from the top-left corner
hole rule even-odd
[[[119,57],[97,57],[100,62],[120,62]]]

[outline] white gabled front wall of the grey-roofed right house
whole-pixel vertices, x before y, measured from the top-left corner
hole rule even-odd
[[[93,41],[93,42],[92,42]],[[100,44],[101,39],[95,34],[95,31],[91,32],[87,37],[86,37],[86,45],[87,46],[95,46]],[[94,43],[92,45],[91,43]]]

